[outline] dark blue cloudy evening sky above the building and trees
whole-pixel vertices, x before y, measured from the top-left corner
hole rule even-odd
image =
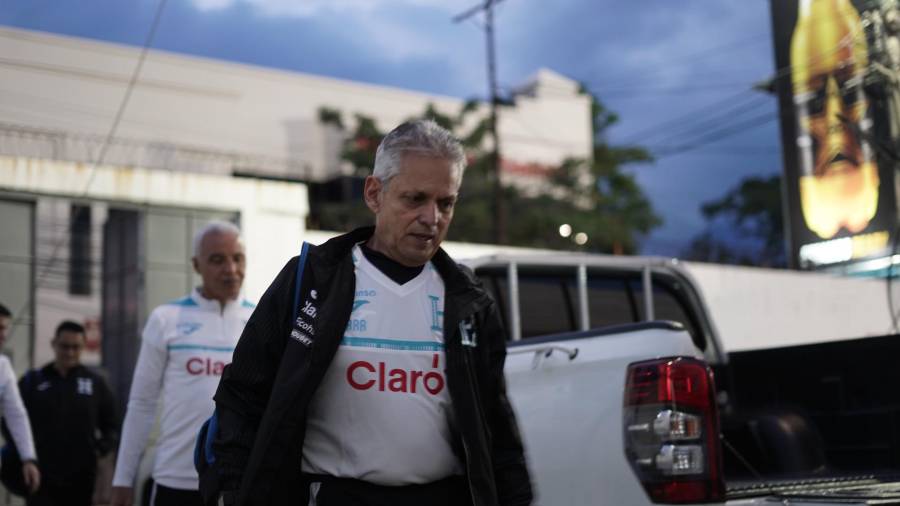
[[[486,94],[475,0],[168,0],[154,47],[462,98]],[[4,0],[0,24],[141,45],[157,0]],[[587,83],[621,121],[613,143],[658,154],[629,168],[665,220],[643,252],[677,254],[700,205],[781,170],[766,0],[505,0],[499,80],[548,67]],[[711,107],[712,106],[712,107]],[[764,123],[763,123],[764,122]],[[761,124],[759,124],[761,123]],[[739,132],[717,142],[711,138]],[[666,156],[686,147],[689,151]]]

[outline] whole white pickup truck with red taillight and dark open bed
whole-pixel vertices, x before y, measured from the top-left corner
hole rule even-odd
[[[560,254],[464,263],[511,334],[508,389],[539,504],[900,504],[900,395],[884,393],[900,383],[867,405],[851,398],[830,411],[816,404],[827,392],[792,390],[824,377],[871,394],[870,374],[828,364],[835,353],[877,360],[896,347],[890,341],[745,351],[736,371],[677,261]],[[780,356],[801,367],[767,365]],[[897,375],[885,374],[875,381]],[[749,392],[746,406],[735,385]]]

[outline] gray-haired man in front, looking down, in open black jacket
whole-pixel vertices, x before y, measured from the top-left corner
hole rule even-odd
[[[277,276],[198,445],[207,504],[531,503],[497,305],[440,248],[464,168],[434,122],[398,126],[365,182],[375,226]]]

